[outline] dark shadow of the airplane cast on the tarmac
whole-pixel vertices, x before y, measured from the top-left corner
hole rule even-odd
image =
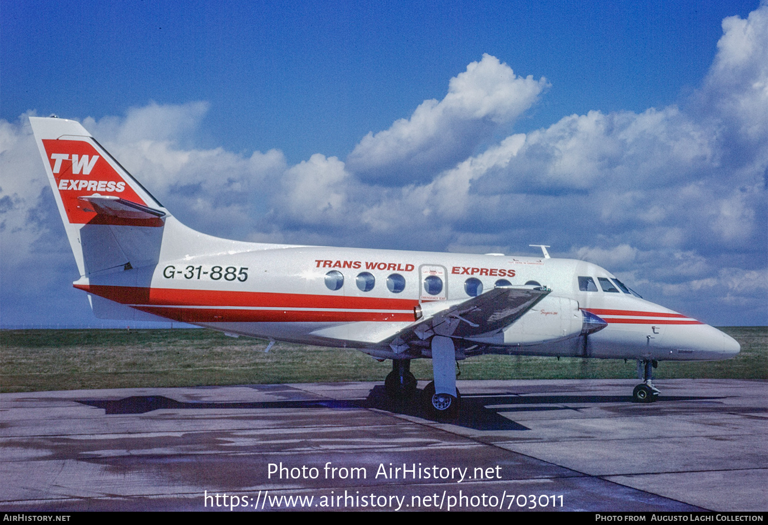
[[[421,391],[416,392],[421,395]],[[709,397],[674,396],[660,398],[663,401],[689,401],[715,399]],[[386,395],[384,387],[376,385],[365,399],[300,399],[280,401],[233,401],[233,402],[200,402],[176,401],[161,395],[139,395],[123,399],[77,399],[81,404],[95,408],[103,408],[105,414],[144,414],[161,409],[254,409],[254,408],[333,408],[350,410],[356,408],[377,408],[395,414],[406,414],[429,421],[455,424],[475,430],[529,430],[528,427],[506,418],[503,412],[522,411],[578,411],[580,407],[568,404],[584,403],[631,403],[632,398],[626,395],[511,395],[508,392],[499,394],[465,395],[462,397],[462,411],[454,420],[442,420],[433,417],[423,408],[419,399],[397,401]],[[657,401],[657,402],[659,402]],[[488,408],[491,405],[494,408]],[[515,406],[524,405],[524,406]]]

